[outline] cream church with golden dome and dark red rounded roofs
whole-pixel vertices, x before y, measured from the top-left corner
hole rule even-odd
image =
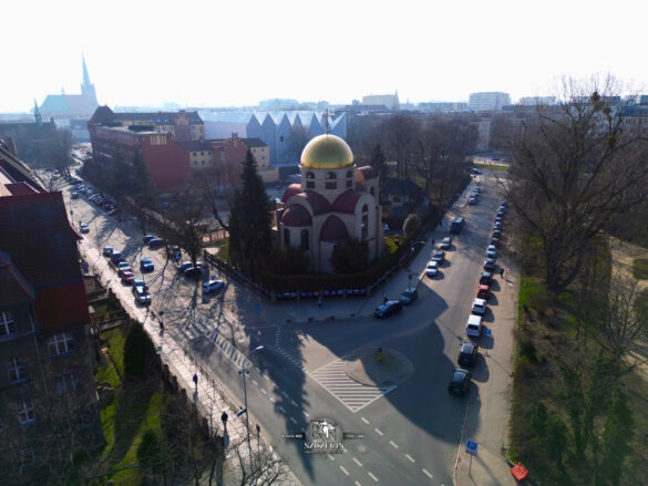
[[[277,211],[280,244],[304,249],[311,273],[332,273],[333,248],[348,239],[367,241],[369,261],[380,258],[378,172],[357,167],[349,145],[328,133],[306,145],[299,170],[301,183],[286,189]]]

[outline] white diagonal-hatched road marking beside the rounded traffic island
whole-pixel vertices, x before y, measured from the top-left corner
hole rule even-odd
[[[359,383],[347,375],[344,361],[341,359],[318,368],[310,372],[309,375],[353,413],[391,392],[397,386],[369,386]]]

